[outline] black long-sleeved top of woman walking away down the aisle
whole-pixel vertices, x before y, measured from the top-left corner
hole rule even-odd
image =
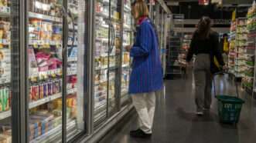
[[[211,32],[209,38],[205,39],[200,39],[198,32],[195,32],[190,43],[186,61],[190,62],[193,58],[193,55],[209,54],[211,61],[213,61],[213,57],[215,56],[220,65],[225,65],[219,45],[219,35],[217,32]]]

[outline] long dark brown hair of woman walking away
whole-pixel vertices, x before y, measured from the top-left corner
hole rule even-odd
[[[203,18],[200,19],[197,25],[196,32],[198,33],[198,38],[200,39],[206,39],[210,37],[211,32],[211,20],[209,17],[203,16]]]

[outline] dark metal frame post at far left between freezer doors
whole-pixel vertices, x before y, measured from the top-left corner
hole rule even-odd
[[[11,28],[11,85],[12,88],[12,111],[11,111],[11,123],[12,123],[12,142],[26,142],[26,108],[22,103],[26,103],[24,83],[26,83],[26,77],[22,76],[26,73],[26,68],[21,65],[26,64],[26,52],[24,51],[24,40],[26,28],[23,28],[26,24],[26,1],[25,0],[11,0],[11,13],[10,22]],[[13,35],[12,32],[16,32],[17,35]],[[14,54],[15,53],[15,54]]]

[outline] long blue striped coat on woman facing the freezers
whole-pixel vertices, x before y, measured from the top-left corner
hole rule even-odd
[[[148,18],[139,25],[135,44],[130,52],[133,58],[129,94],[158,91],[163,86],[162,65],[158,38]]]

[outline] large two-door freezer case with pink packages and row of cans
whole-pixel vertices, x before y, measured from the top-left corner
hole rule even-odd
[[[29,142],[84,131],[84,15],[82,0],[29,0]]]

